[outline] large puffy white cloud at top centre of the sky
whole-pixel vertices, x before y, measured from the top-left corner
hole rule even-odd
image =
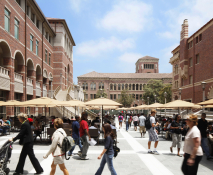
[[[112,10],[98,22],[107,30],[140,32],[151,23],[152,6],[139,0],[116,1]]]

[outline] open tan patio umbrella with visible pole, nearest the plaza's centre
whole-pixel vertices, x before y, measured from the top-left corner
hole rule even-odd
[[[107,98],[97,98],[95,100],[90,100],[85,103],[87,106],[101,106],[102,107],[102,125],[103,125],[103,106],[122,106],[122,104],[115,102]]]

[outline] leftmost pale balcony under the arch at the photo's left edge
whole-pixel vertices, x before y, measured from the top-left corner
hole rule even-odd
[[[10,90],[9,70],[4,67],[0,67],[0,82],[0,89]]]

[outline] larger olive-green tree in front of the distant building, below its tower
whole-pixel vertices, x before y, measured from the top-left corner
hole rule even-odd
[[[164,84],[162,80],[149,80],[147,86],[144,88],[145,93],[143,94],[143,99],[145,103],[148,104],[147,97],[149,97],[149,104],[155,103],[154,95],[156,95],[156,102],[160,102],[159,92],[163,88]]]

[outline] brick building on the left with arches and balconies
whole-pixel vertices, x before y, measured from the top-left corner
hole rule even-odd
[[[46,18],[35,0],[1,0],[0,101],[52,97],[72,85],[73,46],[66,21]],[[0,107],[6,114],[14,109]]]

